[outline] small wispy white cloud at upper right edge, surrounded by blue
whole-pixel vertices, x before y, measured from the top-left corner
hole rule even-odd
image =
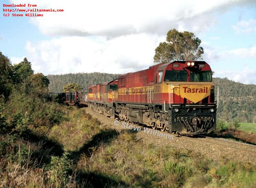
[[[248,21],[241,20],[236,25],[232,25],[236,33],[251,33],[256,32],[256,20],[250,19]]]

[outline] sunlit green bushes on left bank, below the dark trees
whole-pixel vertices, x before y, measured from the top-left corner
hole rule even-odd
[[[66,107],[58,103],[48,102],[44,98],[25,95],[14,90],[6,105],[5,113],[11,129],[25,126],[41,127],[42,130],[47,131],[65,119],[64,110],[66,111]]]

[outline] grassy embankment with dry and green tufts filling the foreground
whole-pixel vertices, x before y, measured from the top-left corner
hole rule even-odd
[[[34,127],[11,142],[1,136],[0,187],[256,186],[250,163],[144,145],[136,132],[100,126],[83,109],[58,109],[65,118],[48,131]]]

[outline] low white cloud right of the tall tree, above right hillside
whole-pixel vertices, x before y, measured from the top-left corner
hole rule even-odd
[[[256,46],[232,50],[221,50],[221,47],[213,47],[207,42],[202,42],[202,46],[204,47],[204,61],[211,65],[215,72],[214,77],[228,77],[236,82],[256,84],[256,69],[248,66],[255,63],[253,58],[256,57]],[[247,61],[243,62],[242,68],[237,70],[234,62],[240,59]],[[222,66],[226,69],[221,69]]]

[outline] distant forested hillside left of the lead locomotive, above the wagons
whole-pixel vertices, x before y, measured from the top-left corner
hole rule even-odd
[[[82,86],[83,89],[88,88],[92,84],[107,82],[116,79],[118,74],[107,74],[100,72],[93,73],[76,73],[76,74],[64,74],[64,75],[48,75],[50,80],[49,91],[50,92],[62,92],[63,87],[68,83],[77,83]]]

